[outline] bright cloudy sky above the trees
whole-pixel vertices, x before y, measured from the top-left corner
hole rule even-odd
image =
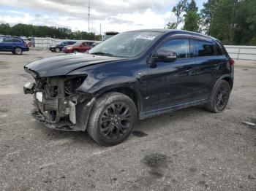
[[[195,0],[198,9],[207,0]],[[176,20],[178,0],[91,0],[90,32],[164,28]],[[17,23],[88,31],[89,0],[0,0],[0,24]]]

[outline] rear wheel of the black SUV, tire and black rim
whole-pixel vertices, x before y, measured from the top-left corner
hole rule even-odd
[[[206,104],[206,109],[210,112],[219,113],[222,112],[227,106],[227,102],[230,98],[231,88],[227,81],[220,80],[215,85],[211,98]]]

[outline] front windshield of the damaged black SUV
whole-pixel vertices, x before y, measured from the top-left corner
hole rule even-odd
[[[162,33],[152,31],[134,31],[117,34],[92,48],[89,54],[133,58],[146,50],[160,34]]]

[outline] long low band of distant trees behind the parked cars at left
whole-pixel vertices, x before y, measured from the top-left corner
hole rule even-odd
[[[0,25],[0,34],[28,37],[51,37],[56,39],[101,40],[100,35],[88,33],[85,31],[72,32],[69,28],[56,28],[53,26],[33,26],[26,24],[17,24],[11,27],[8,23],[3,23]]]

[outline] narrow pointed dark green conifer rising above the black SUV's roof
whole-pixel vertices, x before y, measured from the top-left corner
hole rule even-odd
[[[192,0],[187,7],[187,14],[184,15],[184,30],[199,32],[200,27],[200,15],[197,13],[197,6],[195,0]]]

